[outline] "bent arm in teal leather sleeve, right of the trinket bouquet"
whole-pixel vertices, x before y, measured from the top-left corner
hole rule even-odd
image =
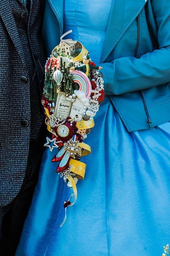
[[[101,63],[106,95],[119,95],[170,82],[170,3],[151,0],[158,27],[159,49],[135,57]],[[106,88],[107,87],[107,88]]]

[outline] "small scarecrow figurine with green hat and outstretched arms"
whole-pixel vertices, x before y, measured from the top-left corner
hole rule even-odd
[[[85,73],[88,78],[91,80],[91,77],[90,77],[90,69],[102,69],[103,67],[100,67],[100,66],[92,66],[89,64],[90,62],[90,57],[88,55],[89,53],[87,53],[86,55],[84,55],[83,57],[83,64],[80,65],[79,67],[70,67],[70,70],[81,70],[83,73]]]

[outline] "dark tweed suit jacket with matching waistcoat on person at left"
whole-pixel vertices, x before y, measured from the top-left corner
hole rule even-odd
[[[32,0],[29,13],[22,0],[0,1],[0,206],[19,192],[30,139],[36,141],[43,122],[43,11],[42,0]],[[33,155],[36,162],[39,150]]]

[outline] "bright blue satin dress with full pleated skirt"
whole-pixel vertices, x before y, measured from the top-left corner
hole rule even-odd
[[[111,0],[67,0],[64,32],[90,51],[96,65],[107,29]],[[91,26],[86,27],[86,19]],[[89,23],[88,23],[89,24]],[[46,148],[39,182],[15,256],[160,256],[170,242],[170,123],[128,133],[108,97],[84,141],[84,180],[78,199],[65,211],[70,190]]]

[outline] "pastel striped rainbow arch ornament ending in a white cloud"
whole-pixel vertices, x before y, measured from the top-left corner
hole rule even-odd
[[[91,83],[88,76],[80,70],[71,71],[71,74],[73,75],[73,81],[80,86],[79,91],[85,93],[86,98],[89,98],[91,94]]]

